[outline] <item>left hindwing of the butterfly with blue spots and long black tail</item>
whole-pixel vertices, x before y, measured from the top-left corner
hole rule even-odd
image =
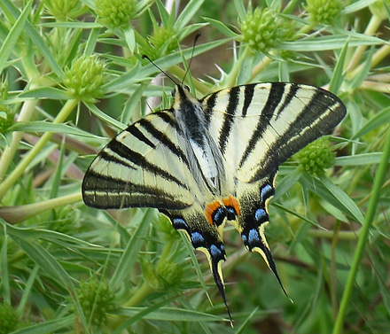
[[[195,249],[206,254],[214,282],[222,296],[232,326],[233,321],[226,300],[221,268],[222,262],[226,260],[226,252],[218,229],[211,225],[206,216],[199,213],[199,210],[191,210],[190,208],[180,211],[160,210],[160,212],[168,216],[175,229],[183,230],[186,233]]]

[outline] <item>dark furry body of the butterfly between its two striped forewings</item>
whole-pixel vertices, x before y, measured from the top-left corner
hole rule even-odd
[[[224,159],[209,135],[200,101],[182,85],[177,85],[173,112],[185,141],[185,151],[192,158],[192,173],[197,175],[199,183],[206,181],[208,190],[214,195],[222,193],[221,187],[226,178]]]

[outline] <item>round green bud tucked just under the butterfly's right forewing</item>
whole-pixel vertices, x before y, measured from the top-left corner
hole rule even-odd
[[[320,175],[324,173],[324,168],[333,166],[334,157],[331,142],[327,138],[317,139],[296,154],[300,168],[311,175]]]

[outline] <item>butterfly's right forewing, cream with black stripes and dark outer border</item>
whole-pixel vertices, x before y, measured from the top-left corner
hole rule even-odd
[[[283,82],[223,89],[205,97],[203,105],[227,165],[245,183],[269,175],[346,113],[339,98],[324,89]]]

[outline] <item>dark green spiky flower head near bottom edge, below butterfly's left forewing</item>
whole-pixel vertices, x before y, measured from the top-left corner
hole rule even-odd
[[[106,314],[113,310],[114,293],[104,279],[92,276],[76,289],[82,312],[87,321],[97,328],[106,322]]]

